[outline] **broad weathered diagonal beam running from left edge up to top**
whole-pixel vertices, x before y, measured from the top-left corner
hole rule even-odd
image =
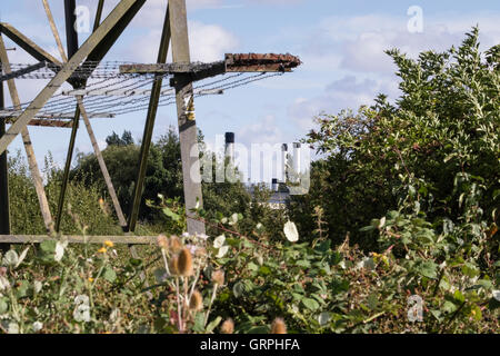
[[[121,0],[106,20],[99,26],[87,41],[80,47],[77,53],[62,67],[62,69],[56,75],[54,78],[40,91],[33,101],[28,106],[24,112],[16,120],[16,122],[9,128],[7,134],[0,139],[0,154],[2,154],[12,140],[21,132],[28,122],[37,115],[37,112],[47,103],[47,101],[53,96],[53,93],[67,81],[79,63],[84,58],[89,59],[90,53],[93,53],[96,49],[109,49],[110,39],[107,37],[110,32],[120,32],[121,26],[123,26],[123,17],[130,16],[131,9],[137,9],[138,4],[142,6],[146,0]],[[139,7],[140,8],[140,7]],[[138,10],[138,9],[137,9]],[[117,28],[118,27],[118,28]],[[102,41],[106,40],[106,43]],[[112,43],[111,43],[112,44]],[[106,55],[99,52],[99,55]]]

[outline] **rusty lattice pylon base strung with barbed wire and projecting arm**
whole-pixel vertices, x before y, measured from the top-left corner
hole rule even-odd
[[[222,93],[224,89],[230,89],[267,77],[260,76],[238,79],[228,86],[222,85],[211,89],[207,88],[207,85],[193,87],[193,83],[226,73],[237,73],[236,76],[248,72],[254,72],[256,76],[258,73],[271,73],[268,75],[269,77],[272,76],[272,73],[291,71],[293,68],[301,65],[300,60],[288,53],[228,53],[223,60],[212,63],[191,62],[188,40],[186,0],[166,0],[168,6],[163,21],[157,62],[153,65],[116,65],[118,66],[119,72],[114,73],[114,77],[108,78],[106,77],[106,73],[102,75],[101,72],[103,77],[100,78],[104,83],[107,78],[120,78],[119,85],[122,85],[110,89],[112,85],[108,83],[100,88],[93,86],[89,79],[93,78],[92,76],[96,76],[96,73],[99,72],[99,68],[101,68],[103,63],[102,59],[112,48],[123,30],[128,27],[130,21],[140,11],[142,6],[146,3],[146,0],[121,0],[102,22],[101,17],[104,0],[99,0],[93,32],[81,46],[78,43],[78,33],[73,26],[76,21],[76,0],[63,0],[63,2],[66,10],[68,53],[64,52],[49,3],[47,0],[42,0],[43,8],[58,44],[62,61],[53,58],[11,24],[0,23],[0,33],[2,36],[7,36],[17,46],[26,50],[39,61],[39,63],[36,65],[13,68],[14,65],[11,66],[9,62],[7,49],[3,44],[2,37],[0,36],[0,61],[2,67],[2,73],[0,73],[0,244],[40,243],[48,238],[54,238],[57,235],[62,236],[60,231],[60,222],[63,214],[70,162],[73,155],[80,118],[83,119],[112,199],[114,211],[120,226],[126,233],[126,236],[91,236],[86,238],[79,236],[66,236],[66,238],[70,243],[102,243],[104,239],[112,240],[118,244],[121,243],[129,245],[153,243],[156,237],[139,237],[133,236],[133,233],[136,230],[139,206],[142,198],[146,178],[146,164],[151,146],[152,131],[154,128],[158,107],[173,103],[176,103],[178,112],[188,233],[204,234],[204,224],[196,218],[194,212],[197,207],[200,208],[203,205],[200,164],[198,159],[198,132],[193,106],[194,98],[197,96],[209,93]],[[172,63],[167,63],[167,55],[170,44],[172,51]],[[40,71],[43,71],[43,75],[47,76],[43,78],[49,78],[50,82],[33,100],[21,103],[14,80],[21,78],[37,78],[30,76],[37,76],[37,73],[40,75]],[[104,79],[102,80],[102,78]],[[166,83],[163,83],[164,78],[169,78],[169,81]],[[128,81],[132,79],[140,82],[128,83]],[[224,80],[227,79],[214,81],[214,83],[222,82]],[[13,105],[11,108],[4,108],[3,81],[8,82],[9,92]],[[62,93],[70,97],[70,99],[62,98],[61,95],[59,95],[58,98],[54,98],[54,93],[64,82],[69,83],[73,88],[73,90],[63,91]],[[150,89],[144,89],[147,86],[150,86]],[[169,86],[171,89],[164,88],[166,86]],[[119,99],[110,99],[107,102],[113,101],[112,105],[106,106],[102,103],[96,103],[99,102],[99,100],[92,98],[93,96],[114,96],[119,97]],[[143,96],[144,98],[133,100],[123,99],[132,96]],[[136,103],[141,101],[148,102],[140,105]],[[129,103],[133,103],[133,106],[130,105],[132,109],[123,109],[123,106]],[[68,111],[68,106],[69,108],[72,107],[70,111]],[[109,109],[111,107],[118,109],[114,112],[100,110],[101,108]],[[57,111],[57,108],[63,108],[64,110]],[[147,119],[141,141],[141,151],[137,170],[138,174],[133,191],[133,202],[127,219],[120,207],[120,202],[118,201],[111,177],[108,172],[99,146],[97,145],[97,139],[89,119],[94,117],[112,118],[116,115],[131,112],[134,110],[147,110]],[[6,125],[10,125],[9,129],[6,129]],[[29,137],[28,126],[48,126],[71,129],[70,144],[68,148],[56,219],[52,219],[51,211],[49,210],[42,178],[37,166],[34,151]],[[10,234],[7,148],[20,134],[27,151],[30,172],[37,188],[43,221],[50,236],[14,236]]]

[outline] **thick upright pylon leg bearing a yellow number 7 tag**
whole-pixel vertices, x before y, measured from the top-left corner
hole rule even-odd
[[[172,40],[172,59],[174,63],[189,63],[188,18],[186,0],[170,0],[170,32]],[[201,194],[200,155],[198,148],[198,129],[194,119],[194,95],[192,80],[188,75],[177,73],[173,77],[176,102],[181,146],[182,179],[184,187],[184,205],[188,217],[188,233],[204,234],[204,222],[196,218],[196,208],[203,207]]]

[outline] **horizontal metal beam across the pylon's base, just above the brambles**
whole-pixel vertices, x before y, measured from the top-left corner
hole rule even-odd
[[[70,244],[97,244],[112,241],[116,245],[154,245],[158,236],[61,236],[54,239],[43,235],[0,235],[0,244],[40,244],[48,240],[68,240]]]

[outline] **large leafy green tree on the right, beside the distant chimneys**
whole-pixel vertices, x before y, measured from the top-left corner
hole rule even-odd
[[[309,134],[307,141],[326,158],[313,166],[310,196],[293,198],[301,230],[311,228],[316,206],[324,209],[337,243],[350,233],[351,241],[367,249],[377,240],[360,227],[403,206],[438,229],[446,219],[493,224],[500,196],[500,47],[481,53],[473,29],[459,48],[442,53],[427,51],[418,59],[396,49],[387,53],[401,79],[396,103],[380,95],[357,113],[318,117],[319,130]]]

